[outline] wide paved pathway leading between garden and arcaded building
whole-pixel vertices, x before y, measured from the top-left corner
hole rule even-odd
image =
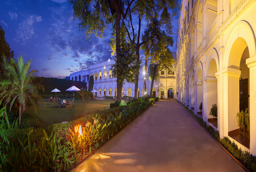
[[[176,101],[158,101],[72,172],[244,172]]]

